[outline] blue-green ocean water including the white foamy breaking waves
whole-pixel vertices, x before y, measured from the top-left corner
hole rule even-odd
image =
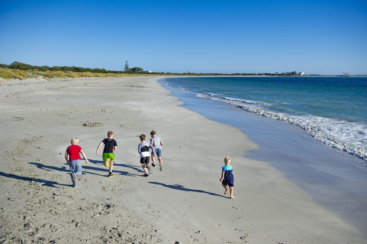
[[[367,77],[175,77],[160,82],[294,124],[367,161]]]

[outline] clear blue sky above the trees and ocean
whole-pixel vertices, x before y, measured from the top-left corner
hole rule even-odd
[[[367,74],[367,1],[1,1],[0,63]]]

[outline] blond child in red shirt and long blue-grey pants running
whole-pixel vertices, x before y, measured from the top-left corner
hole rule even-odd
[[[83,155],[84,159],[86,160],[86,163],[89,163],[87,156],[84,154],[81,147],[79,147],[77,144],[79,143],[78,138],[74,137],[70,141],[71,146],[66,148],[65,152],[65,160],[66,163],[69,164],[70,167],[70,175],[71,175],[71,181],[73,182],[73,187],[76,187],[76,182],[78,179],[77,176],[81,175],[81,162],[80,162],[80,153]],[[69,160],[68,160],[69,155]]]

